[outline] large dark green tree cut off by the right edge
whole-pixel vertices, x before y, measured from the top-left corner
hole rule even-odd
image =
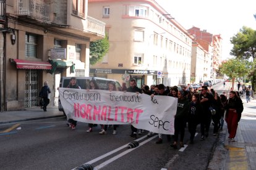
[[[233,44],[230,54],[234,55],[237,59],[252,60],[256,58],[256,31],[247,26],[234,35],[230,42]],[[256,84],[256,68],[251,67],[248,75],[252,81],[252,87],[255,90]]]

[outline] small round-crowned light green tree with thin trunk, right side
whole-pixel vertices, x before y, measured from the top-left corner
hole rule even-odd
[[[229,76],[232,79],[232,89],[234,89],[235,78],[241,78],[248,73],[250,68],[249,62],[241,59],[229,59],[221,64],[221,73]]]

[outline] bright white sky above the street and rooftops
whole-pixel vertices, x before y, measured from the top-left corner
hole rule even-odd
[[[155,0],[164,10],[186,30],[196,26],[211,34],[221,34],[223,38],[222,60],[233,56],[230,38],[242,26],[256,30],[255,0]]]

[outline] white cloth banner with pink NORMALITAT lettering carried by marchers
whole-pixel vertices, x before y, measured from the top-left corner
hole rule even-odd
[[[132,124],[160,134],[174,134],[177,99],[132,92],[59,88],[67,118],[94,124]]]

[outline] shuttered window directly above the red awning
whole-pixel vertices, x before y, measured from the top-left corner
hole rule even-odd
[[[35,34],[25,35],[25,57],[37,58],[37,36]]]

